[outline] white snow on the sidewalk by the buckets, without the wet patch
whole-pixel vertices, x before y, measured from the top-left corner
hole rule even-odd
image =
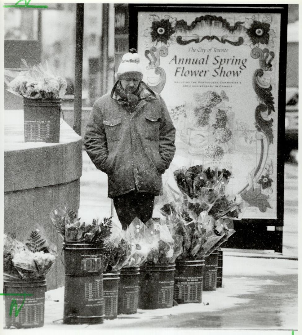
[[[64,325],[63,324],[63,297],[64,288],[47,291],[45,303],[45,325],[44,330],[114,330],[123,328],[140,327],[152,322],[154,327],[161,328],[163,321],[167,318],[176,316],[181,320],[183,316],[193,313],[201,315],[218,312],[227,316],[234,308],[247,306],[251,304],[253,297],[261,296],[264,286],[270,286],[275,289],[275,294],[281,290],[286,290],[287,283],[282,283],[280,278],[286,276],[296,277],[298,274],[298,262],[287,259],[259,259],[224,256],[223,258],[223,287],[216,291],[203,292],[203,303],[178,305],[169,309],[158,310],[138,310],[134,315],[120,315],[115,320],[104,320],[103,324],[98,325]],[[274,287],[273,287],[274,286]],[[296,287],[297,289],[297,287]],[[247,297],[250,295],[250,298]],[[57,301],[59,300],[59,301]],[[297,296],[292,294],[288,300],[275,306],[275,316],[278,322],[274,326],[267,326],[262,329],[297,329],[298,328],[298,311]],[[189,313],[189,314],[188,314]],[[253,320],[254,319],[254,320]],[[227,320],[227,318],[226,318]],[[250,329],[259,329],[257,319],[250,312],[250,321],[254,327]],[[235,322],[235,320],[234,320]],[[235,322],[236,324],[236,322]],[[194,326],[194,318],[192,320]],[[241,329],[240,323],[229,329]],[[177,322],[174,327],[168,329],[179,329]],[[228,329],[227,325],[222,324],[220,329]],[[245,328],[246,329],[246,328]],[[261,328],[260,328],[261,329]],[[22,330],[22,333],[27,330]],[[31,332],[31,331],[30,331]],[[212,334],[212,333],[211,333]],[[253,332],[255,334],[255,332]],[[279,333],[278,333],[279,334]]]

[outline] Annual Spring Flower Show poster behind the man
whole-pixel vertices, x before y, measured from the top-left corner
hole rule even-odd
[[[143,80],[176,128],[175,168],[232,171],[244,218],[277,218],[279,13],[138,12]],[[170,171],[171,170],[171,171]]]

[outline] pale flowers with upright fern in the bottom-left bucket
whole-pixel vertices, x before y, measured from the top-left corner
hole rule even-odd
[[[4,234],[4,278],[44,278],[53,266],[56,257],[56,246],[48,244],[41,237],[39,229],[32,231],[30,238],[25,243]]]

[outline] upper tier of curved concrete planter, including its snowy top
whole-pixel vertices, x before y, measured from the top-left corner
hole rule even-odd
[[[5,111],[4,192],[68,183],[81,175],[82,138],[65,121],[60,143],[25,143],[23,111]]]

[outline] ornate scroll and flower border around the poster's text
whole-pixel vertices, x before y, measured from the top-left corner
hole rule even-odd
[[[143,34],[146,38],[145,57],[149,61],[147,69],[154,69],[155,74],[160,76],[159,83],[152,86],[152,89],[158,93],[162,91],[166,81],[165,71],[160,67],[160,57],[168,55],[168,48],[171,44],[188,45],[202,43],[204,40],[216,40],[236,47],[250,46],[250,56],[259,60],[259,68],[253,74],[252,83],[258,99],[258,105],[255,108],[255,127],[261,153],[257,166],[249,173],[247,184],[239,193],[249,206],[255,206],[261,212],[272,208],[268,199],[273,193],[271,187],[273,179],[270,177],[274,168],[272,161],[268,162],[268,153],[269,146],[274,140],[272,112],[275,112],[275,108],[270,79],[263,76],[265,72],[269,73],[273,70],[276,34],[271,28],[272,19],[272,16],[263,16],[262,20],[258,21],[253,15],[231,25],[221,16],[204,15],[195,18],[188,25],[184,20],[177,20],[176,17],[170,15],[164,15],[164,18],[160,19],[158,15],[150,14],[151,26],[145,29]],[[216,32],[219,31],[221,37],[218,37],[218,34],[202,34],[204,28],[211,27],[215,28]],[[187,33],[190,33],[188,39],[183,37],[188,36]]]

